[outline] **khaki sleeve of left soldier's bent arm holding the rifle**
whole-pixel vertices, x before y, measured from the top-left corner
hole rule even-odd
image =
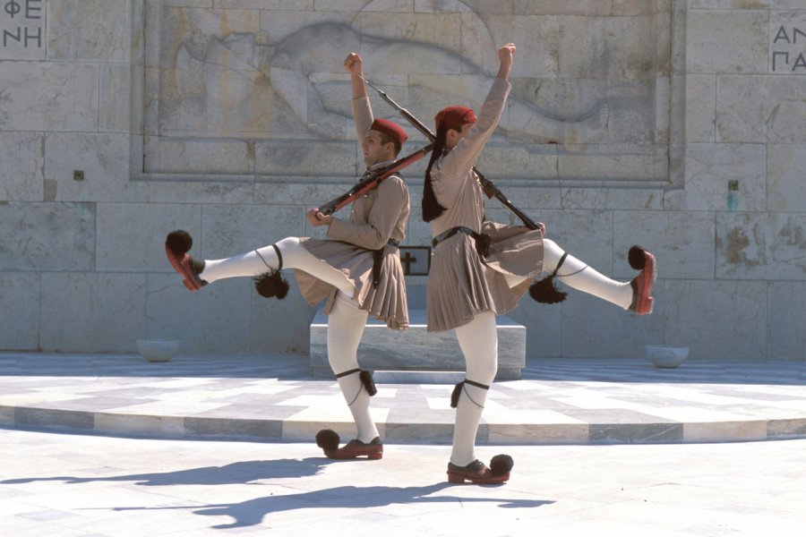
[[[380,250],[389,242],[405,204],[406,184],[398,175],[391,175],[378,185],[378,198],[370,209],[366,224],[334,218],[328,228],[328,237],[367,250]]]

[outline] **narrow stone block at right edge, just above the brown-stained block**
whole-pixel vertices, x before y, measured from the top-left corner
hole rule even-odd
[[[806,208],[803,170],[806,170],[806,144],[767,144],[767,210],[786,212]]]

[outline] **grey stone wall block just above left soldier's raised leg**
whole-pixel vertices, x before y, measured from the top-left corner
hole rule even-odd
[[[305,236],[305,209],[260,205],[213,205],[201,219],[205,259],[222,259],[262,248],[288,236]]]

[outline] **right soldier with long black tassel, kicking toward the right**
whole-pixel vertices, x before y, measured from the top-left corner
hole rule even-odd
[[[428,330],[455,330],[467,365],[451,397],[457,412],[450,482],[499,483],[510,477],[510,456],[494,456],[489,468],[476,459],[476,431],[498,369],[495,315],[515,308],[534,277],[550,272],[625,310],[652,311],[656,269],[648,251],[632,247],[630,265],[641,272],[631,282],[616,282],[544,239],[543,225],[530,230],[484,220],[484,191],[473,165],[502,115],[515,47],[501,47],[498,54],[498,76],[478,117],[467,107],[447,107],[436,115],[436,141],[425,172],[423,217],[433,234]]]

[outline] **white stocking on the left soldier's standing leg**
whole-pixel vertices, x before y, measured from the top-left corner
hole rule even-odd
[[[358,369],[358,344],[364,335],[367,312],[345,299],[336,297],[328,315],[328,361],[333,373],[339,375]],[[370,396],[358,377],[358,372],[337,379],[350,413],[356,421],[356,438],[369,442],[378,435],[378,429],[370,416]]]

